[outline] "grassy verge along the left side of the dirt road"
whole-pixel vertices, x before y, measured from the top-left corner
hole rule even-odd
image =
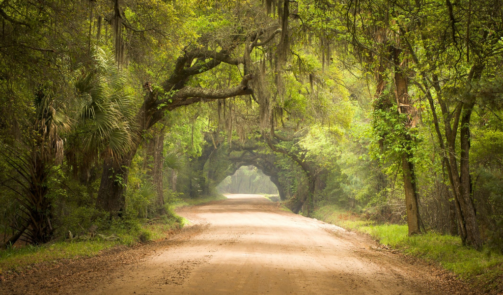
[[[181,206],[200,205],[224,196],[181,199],[171,205],[171,209]],[[104,233],[92,236],[54,241],[41,246],[23,246],[0,250],[0,279],[10,272],[23,272],[39,263],[55,263],[61,259],[79,259],[98,255],[101,251],[115,246],[133,246],[139,242],[164,239],[167,235],[187,224],[185,218],[174,214],[170,217],[154,219],[123,220],[112,225]]]

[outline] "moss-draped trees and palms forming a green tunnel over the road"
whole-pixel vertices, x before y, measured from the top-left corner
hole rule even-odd
[[[295,213],[503,249],[500,0],[10,0],[0,20],[3,247],[171,216],[253,166]]]

